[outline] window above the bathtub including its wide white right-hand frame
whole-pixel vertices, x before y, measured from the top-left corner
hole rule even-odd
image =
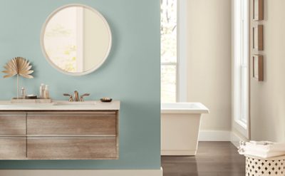
[[[162,103],[187,101],[187,1],[160,0]]]

